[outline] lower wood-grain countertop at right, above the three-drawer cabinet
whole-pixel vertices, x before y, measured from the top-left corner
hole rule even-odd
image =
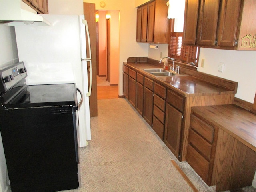
[[[192,110],[256,152],[256,115],[234,104],[192,107]]]

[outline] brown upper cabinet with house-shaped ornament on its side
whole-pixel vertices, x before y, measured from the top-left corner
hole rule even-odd
[[[255,0],[186,0],[184,45],[256,50]]]

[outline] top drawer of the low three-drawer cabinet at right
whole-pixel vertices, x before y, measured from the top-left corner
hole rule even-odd
[[[190,128],[200,134],[205,140],[212,143],[214,138],[214,128],[202,120],[200,120],[194,114],[191,114]]]

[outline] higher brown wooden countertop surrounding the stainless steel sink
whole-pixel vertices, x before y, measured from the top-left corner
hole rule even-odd
[[[180,75],[176,76],[157,77],[142,70],[146,68],[161,68],[162,65],[160,66],[160,64],[152,64],[149,62],[124,62],[124,65],[127,65],[140,74],[143,74],[144,76],[147,76],[148,78],[151,78],[170,89],[174,89],[176,92],[179,92],[186,97],[214,94],[234,94],[234,90],[211,84],[184,73],[180,73]]]

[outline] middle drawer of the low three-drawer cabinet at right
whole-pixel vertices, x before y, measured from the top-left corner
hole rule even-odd
[[[188,134],[188,143],[210,162],[212,145],[191,129]]]

